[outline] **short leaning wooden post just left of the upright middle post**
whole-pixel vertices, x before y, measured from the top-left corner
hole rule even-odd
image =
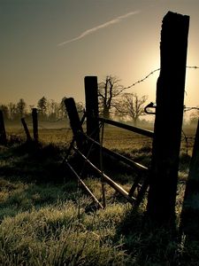
[[[68,113],[68,117],[71,124],[71,129],[73,131],[73,137],[75,137],[75,141],[77,147],[82,151],[83,149],[83,140],[80,132],[83,132],[83,129],[80,124],[80,117],[77,112],[77,108],[75,106],[75,102],[73,98],[66,98],[65,99],[65,108]]]

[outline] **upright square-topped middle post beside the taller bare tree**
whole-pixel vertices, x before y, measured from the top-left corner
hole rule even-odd
[[[98,110],[98,84],[96,76],[86,76],[85,98],[86,98],[86,114],[87,114],[87,135],[92,137],[96,142],[99,140],[99,110]],[[90,146],[88,147],[90,150]],[[89,154],[90,160],[99,166],[100,150],[99,147],[93,145]]]

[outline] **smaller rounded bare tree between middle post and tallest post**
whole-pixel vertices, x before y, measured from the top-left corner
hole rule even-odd
[[[144,104],[148,96],[138,97],[136,93],[124,93],[117,107],[118,113],[129,116],[136,126],[140,116],[144,115]]]

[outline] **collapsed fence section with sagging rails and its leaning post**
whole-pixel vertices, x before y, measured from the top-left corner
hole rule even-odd
[[[93,77],[92,77],[92,79],[93,79]],[[96,88],[96,86],[95,86],[95,88]],[[68,167],[72,170],[73,175],[78,178],[78,180],[80,181],[80,184],[83,185],[83,188],[85,188],[86,191],[89,193],[89,195],[97,202],[98,206],[100,206],[98,203],[98,200],[96,200],[96,198],[94,198],[95,196],[92,194],[92,192],[89,191],[86,184],[84,184],[82,182],[82,180],[80,179],[80,176],[78,176],[77,172],[75,172],[75,170],[73,169],[73,167],[70,165],[70,163],[67,160],[67,158],[68,158],[68,156],[72,150],[74,150],[75,153],[78,153],[80,155],[81,159],[85,160],[86,163],[88,163],[88,165],[91,168],[93,168],[98,175],[102,176],[103,181],[105,183],[111,185],[111,187],[115,191],[119,192],[123,197],[125,197],[128,202],[130,202],[131,204],[134,205],[134,207],[138,207],[140,205],[140,203],[142,202],[144,193],[147,191],[148,186],[149,186],[149,178],[148,178],[149,168],[146,168],[146,167],[142,166],[140,163],[135,162],[134,160],[130,160],[119,153],[112,152],[111,150],[103,147],[103,145],[101,145],[99,143],[99,137],[97,137],[97,138],[93,137],[93,134],[91,134],[94,131],[96,131],[96,129],[93,128],[92,132],[91,133],[89,132],[90,136],[88,136],[88,134],[85,134],[82,127],[81,127],[80,118],[79,118],[79,115],[77,113],[77,109],[76,109],[75,102],[74,102],[73,98],[66,99],[65,100],[65,106],[66,106],[66,111],[67,111],[68,116],[69,116],[71,127],[73,129],[73,141],[69,147],[67,155],[65,156],[65,160],[63,162],[66,162]],[[86,110],[86,116],[88,116],[87,115],[88,113],[90,113],[89,110]],[[97,123],[97,129],[98,130],[100,128],[99,122],[101,121],[101,124],[108,123],[108,124],[111,124],[113,126],[119,127],[121,129],[127,129],[129,131],[141,134],[142,136],[153,137],[153,132],[146,130],[146,129],[136,128],[133,126],[126,125],[124,123],[120,123],[118,121],[111,121],[108,119],[104,119],[102,117],[99,118],[98,116],[96,116],[96,119],[98,121],[98,123]],[[74,145],[75,143],[76,143],[77,147]],[[91,154],[92,145],[96,145],[97,147],[92,149],[92,154]],[[88,149],[88,147],[90,147],[90,148]],[[85,151],[88,151],[88,150],[89,150],[89,160],[88,160],[88,156],[85,156]],[[139,175],[134,179],[134,184],[132,185],[130,192],[126,192],[126,190],[124,190],[119,184],[115,183],[111,179],[111,177],[105,175],[103,173],[102,169],[101,170],[99,169],[98,165],[99,165],[99,160],[101,160],[100,159],[101,156],[97,156],[97,154],[99,155],[101,153],[100,150],[103,151],[103,153],[107,153],[108,155],[111,155],[111,157],[126,163],[126,165],[134,168],[134,170],[139,171]],[[96,152],[94,152],[94,151],[96,151]],[[96,154],[96,158],[95,158],[95,154]],[[91,158],[92,158],[92,162],[90,161]],[[98,160],[96,160],[97,158],[98,158]],[[144,176],[143,176],[143,174],[144,174]],[[141,181],[142,181],[142,184],[140,184]],[[135,196],[134,192],[136,189],[137,189],[137,194]]]

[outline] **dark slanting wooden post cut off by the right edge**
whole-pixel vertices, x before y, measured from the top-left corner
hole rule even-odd
[[[199,121],[181,212],[180,229],[188,240],[199,239]]]

